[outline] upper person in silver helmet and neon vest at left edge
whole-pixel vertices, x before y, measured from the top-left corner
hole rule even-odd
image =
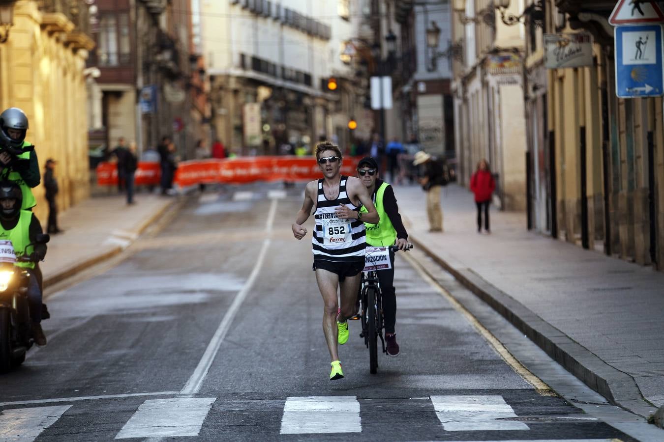
[[[21,209],[35,207],[32,188],[41,180],[35,146],[25,140],[27,130],[28,117],[18,107],[0,113],[0,180],[19,185],[23,193]]]

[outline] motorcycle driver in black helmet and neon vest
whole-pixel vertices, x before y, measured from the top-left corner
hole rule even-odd
[[[18,259],[14,265],[29,270],[27,296],[33,339],[35,344],[43,346],[46,345],[46,335],[41,327],[42,290],[37,274],[31,270],[36,261],[46,256],[46,245],[37,243],[37,235],[42,233],[41,224],[34,213],[21,209],[22,200],[23,193],[15,182],[0,182],[0,239],[11,241]],[[31,258],[31,261],[21,261],[22,257]]]

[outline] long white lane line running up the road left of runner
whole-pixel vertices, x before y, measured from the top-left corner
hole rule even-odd
[[[276,203],[277,200],[273,199],[272,204],[270,205],[270,213],[266,223],[266,229],[268,231],[272,231],[272,223],[274,222],[274,214],[276,213],[277,208]],[[228,307],[228,311],[226,311],[226,314],[219,324],[219,327],[217,327],[214,335],[212,336],[212,339],[210,339],[210,343],[208,343],[207,349],[205,349],[205,353],[203,353],[203,357],[201,357],[199,364],[196,366],[193,374],[191,374],[187,384],[185,384],[185,386],[180,391],[180,394],[193,395],[197,394],[199,390],[201,390],[201,386],[203,386],[203,381],[205,380],[205,376],[207,376],[208,371],[210,370],[210,366],[214,361],[214,357],[216,357],[216,353],[219,351],[219,347],[221,346],[222,341],[224,341],[224,337],[226,337],[228,329],[230,329],[230,324],[233,322],[235,315],[238,313],[240,305],[242,305],[242,302],[244,302],[244,298],[246,298],[246,296],[249,294],[249,290],[251,290],[254,282],[256,282],[256,278],[258,277],[260,269],[263,266],[265,255],[268,252],[268,247],[270,246],[271,242],[272,241],[270,241],[270,239],[265,239],[263,241],[263,245],[260,249],[260,252],[258,253],[258,259],[256,259],[256,264],[254,265],[254,269],[249,275],[247,282],[244,283],[242,290],[238,292],[232,304],[230,304],[230,307]]]

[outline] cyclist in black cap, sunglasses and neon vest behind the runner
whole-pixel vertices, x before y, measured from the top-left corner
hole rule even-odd
[[[378,178],[378,163],[371,156],[365,156],[357,164],[357,174],[367,187],[373,199],[380,221],[377,224],[365,222],[367,245],[386,247],[396,245],[400,250],[408,248],[408,233],[401,221],[396,205],[394,190],[390,184]],[[364,211],[363,207],[361,211]],[[394,292],[394,252],[390,250],[391,268],[376,272],[382,293],[382,311],[385,317],[385,350],[389,356],[398,356],[394,323],[396,323],[396,293]]]

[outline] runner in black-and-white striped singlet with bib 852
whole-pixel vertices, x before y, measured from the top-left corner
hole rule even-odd
[[[365,225],[378,223],[378,213],[367,188],[354,176],[341,175],[341,150],[331,142],[316,146],[316,160],[323,178],[307,184],[304,203],[291,226],[293,236],[301,240],[307,235],[302,225],[315,207],[313,231],[313,270],[325,303],[323,333],[330,352],[330,380],[343,378],[337,343],[348,341],[347,319],[355,315],[355,298],[360,274],[365,266]],[[360,213],[359,208],[367,208]],[[341,309],[337,302],[341,293]]]

